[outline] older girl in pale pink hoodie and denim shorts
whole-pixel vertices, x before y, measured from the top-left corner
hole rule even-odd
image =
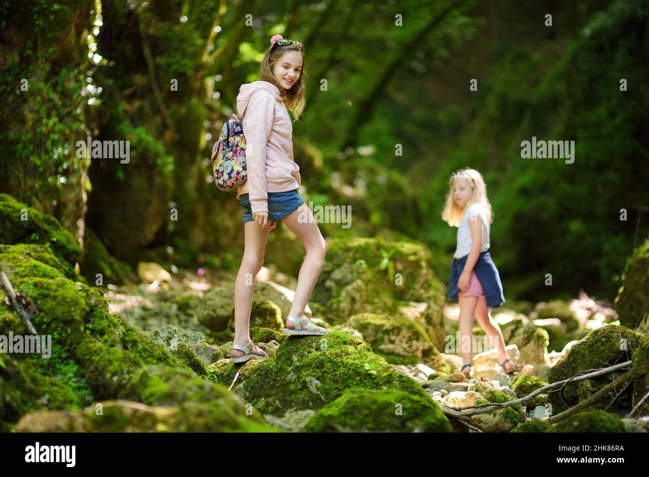
[[[306,75],[304,46],[281,35],[271,38],[263,58],[260,79],[243,84],[237,112],[243,115],[248,179],[239,186],[243,208],[245,249],[234,286],[234,344],[236,363],[268,355],[250,339],[250,313],[254,278],[263,265],[268,232],[282,221],[304,244],[306,257],[300,268],[286,334],[328,333],[304,316],[304,310],[324,263],[326,245],[311,210],[300,196],[300,167],[293,161],[293,125],[304,110]]]

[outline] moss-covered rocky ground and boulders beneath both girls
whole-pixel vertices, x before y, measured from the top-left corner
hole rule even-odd
[[[646,286],[638,278],[648,269],[646,245],[630,260],[615,307],[585,294],[567,302],[508,302],[494,319],[510,358],[524,367],[498,373],[495,351],[484,349],[466,378],[459,354],[448,348],[458,330],[458,307],[447,303],[421,245],[369,238],[328,243],[307,310],[331,331],[326,336],[282,334],[295,279],[263,268],[251,337],[269,357],[237,365],[228,355],[234,272],[178,272],[141,262],[130,283],[89,286],[69,261],[73,241],[51,246],[42,236],[51,237],[56,224],[29,226],[33,230],[3,238],[14,243],[0,245],[0,267],[38,334],[52,337],[53,354],[47,360],[0,354],[4,431],[649,428],[649,399],[643,400],[649,393],[647,323],[629,326],[633,316],[642,316],[644,294],[635,286]],[[27,334],[9,295],[3,293],[0,336]],[[474,334],[484,336],[478,326]],[[614,373],[548,389],[521,404],[477,414],[471,408],[523,398],[626,361]],[[606,387],[618,379],[622,384]],[[584,402],[583,409],[552,422]],[[461,416],[466,412],[470,417]]]

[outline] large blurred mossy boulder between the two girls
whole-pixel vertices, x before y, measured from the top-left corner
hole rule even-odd
[[[441,349],[446,289],[428,267],[430,258],[426,247],[404,241],[332,239],[313,290],[316,311],[332,324],[358,313],[401,315]]]

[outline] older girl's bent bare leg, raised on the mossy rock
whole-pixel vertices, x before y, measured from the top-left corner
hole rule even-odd
[[[282,222],[302,241],[306,250],[306,257],[304,257],[300,273],[297,276],[295,298],[289,312],[290,316],[301,318],[304,315],[304,309],[309,301],[313,287],[315,287],[315,282],[317,282],[323,268],[326,242],[306,203],[302,203],[297,209],[286,215]],[[305,326],[302,326],[302,328],[305,328]],[[286,322],[286,327],[289,330],[295,329],[295,326],[290,321]],[[313,330],[320,331],[321,328],[315,326]]]

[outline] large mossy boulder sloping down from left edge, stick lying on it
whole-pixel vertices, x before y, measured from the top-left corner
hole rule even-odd
[[[68,280],[49,248],[0,245],[0,267],[35,308],[37,332],[52,337],[52,356],[38,360],[38,368],[27,354],[12,356],[16,362],[10,363],[2,356],[0,384],[8,385],[0,386],[0,412],[6,430],[31,411],[80,410],[88,401],[113,399],[177,407],[179,419],[195,416],[177,422],[172,428],[178,430],[266,428],[261,415],[251,415],[240,401],[232,404],[227,389],[197,376],[162,345],[110,313],[99,289]],[[0,306],[1,334],[27,334],[16,312]]]

